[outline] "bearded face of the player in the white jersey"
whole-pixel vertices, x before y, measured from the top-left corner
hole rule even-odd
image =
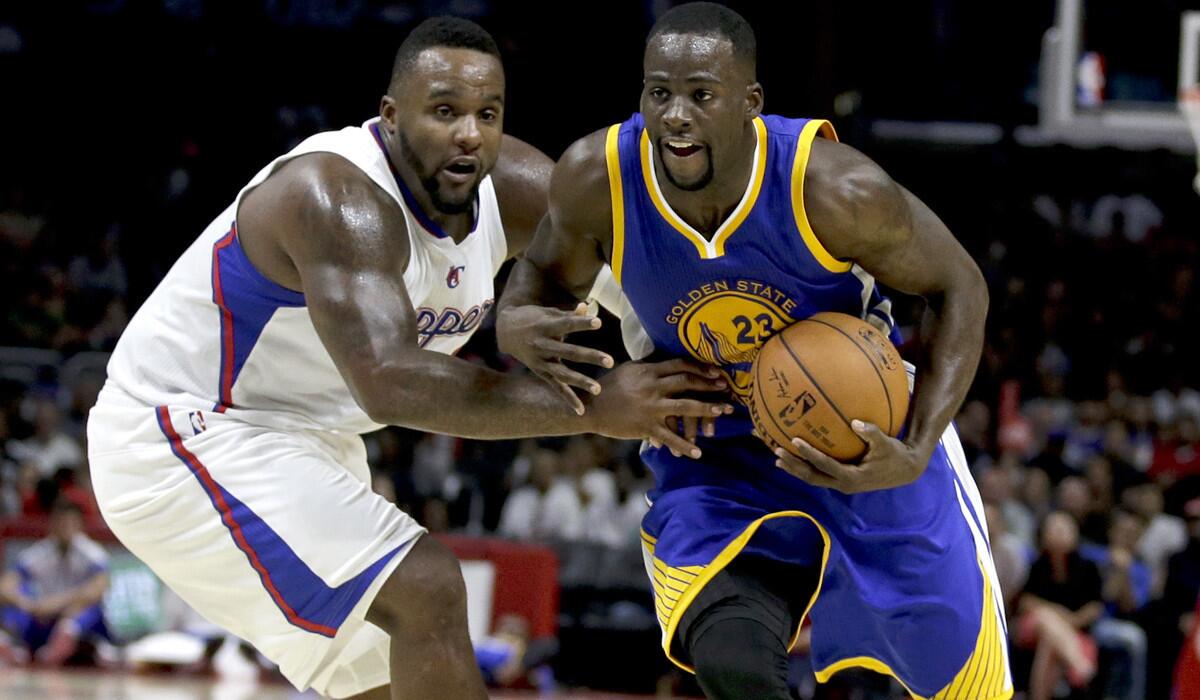
[[[433,207],[469,211],[500,152],[504,68],[472,49],[426,49],[384,97],[382,116],[396,136],[394,160],[416,175]]]

